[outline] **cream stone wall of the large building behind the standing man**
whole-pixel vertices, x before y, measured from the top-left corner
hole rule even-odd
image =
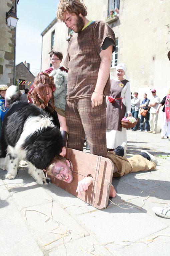
[[[87,6],[89,20],[106,19],[108,0],[82,0],[82,2]],[[138,91],[141,99],[143,93],[147,93],[148,98],[151,99],[150,89],[154,88],[162,100],[170,88],[170,62],[167,58],[167,53],[170,51],[169,14],[169,0],[120,0],[118,19],[109,23],[118,38],[118,64],[127,65],[131,91],[132,93]],[[63,52],[65,56],[68,28],[64,23],[56,22],[55,29],[54,48]],[[46,31],[43,36],[42,67],[46,66],[44,60],[47,59],[44,56],[47,55],[47,45],[51,42],[48,33],[51,36],[51,31]],[[112,78],[116,77],[116,68],[112,67],[110,73]],[[160,111],[158,130],[161,123]]]

